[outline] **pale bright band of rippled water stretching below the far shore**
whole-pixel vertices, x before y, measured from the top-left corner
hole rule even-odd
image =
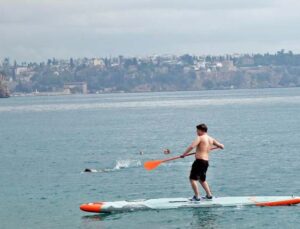
[[[249,105],[249,104],[300,104],[300,96],[289,97],[258,97],[258,98],[218,98],[218,99],[174,99],[161,101],[130,101],[130,102],[102,102],[102,103],[66,103],[66,104],[35,104],[1,106],[0,112],[47,112],[68,110],[98,110],[105,108],[157,108],[157,107],[193,107],[207,105]]]

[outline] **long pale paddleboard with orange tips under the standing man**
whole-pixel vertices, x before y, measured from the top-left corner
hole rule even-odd
[[[161,198],[134,201],[113,201],[86,203],[80,206],[82,211],[111,213],[147,209],[176,209],[201,207],[235,207],[235,206],[284,206],[300,203],[300,197],[294,196],[243,196],[214,197],[212,200],[201,198],[191,201],[188,198]]]

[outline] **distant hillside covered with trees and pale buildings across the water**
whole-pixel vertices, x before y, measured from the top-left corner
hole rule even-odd
[[[284,50],[263,55],[53,58],[21,65],[6,58],[0,70],[10,79],[10,88],[22,93],[59,92],[71,82],[86,82],[89,93],[300,86],[300,55]]]

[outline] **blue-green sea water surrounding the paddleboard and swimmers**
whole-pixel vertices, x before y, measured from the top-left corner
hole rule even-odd
[[[299,228],[299,206],[79,210],[192,196],[192,157],[142,164],[181,154],[202,122],[225,144],[210,158],[215,196],[300,195],[300,88],[12,97],[0,100],[0,228]]]

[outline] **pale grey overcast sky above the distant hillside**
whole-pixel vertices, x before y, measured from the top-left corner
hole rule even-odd
[[[299,0],[0,0],[0,58],[300,53]]]

